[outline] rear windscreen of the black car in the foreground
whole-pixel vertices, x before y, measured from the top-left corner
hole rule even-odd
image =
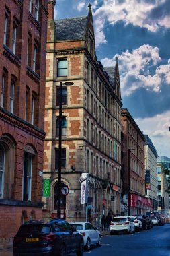
[[[19,234],[48,234],[50,233],[50,226],[47,224],[31,224],[31,225],[23,225],[19,228]]]

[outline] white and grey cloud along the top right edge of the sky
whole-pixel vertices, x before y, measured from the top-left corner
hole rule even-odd
[[[97,6],[95,1],[93,16],[96,19],[100,18],[113,25],[118,21],[124,21],[126,25],[133,24],[147,28],[151,32],[157,32],[160,27],[170,28],[167,11],[170,7],[169,0],[103,0],[101,3],[101,6],[95,9]],[[96,31],[96,36],[98,32],[101,34],[101,30]],[[98,44],[102,42],[101,40]]]

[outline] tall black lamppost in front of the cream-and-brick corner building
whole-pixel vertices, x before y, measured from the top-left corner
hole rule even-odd
[[[60,82],[60,100],[59,100],[59,146],[58,146],[58,200],[57,200],[57,218],[60,218],[60,196],[61,196],[61,152],[62,152],[62,86],[72,86],[73,82]]]

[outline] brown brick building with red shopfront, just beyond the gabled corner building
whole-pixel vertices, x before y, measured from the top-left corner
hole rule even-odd
[[[127,108],[121,110],[122,124],[122,215],[138,215],[152,207],[145,197],[145,137]],[[128,210],[128,204],[130,209]]]

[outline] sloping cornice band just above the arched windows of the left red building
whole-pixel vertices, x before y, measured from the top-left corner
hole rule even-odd
[[[1,120],[10,123],[11,125],[17,127],[18,129],[22,129],[42,140],[44,140],[46,133],[39,129],[38,127],[35,127],[34,125],[31,125],[27,121],[24,121],[20,117],[17,117],[16,115],[13,115],[9,113],[7,110],[0,107],[0,117]]]

